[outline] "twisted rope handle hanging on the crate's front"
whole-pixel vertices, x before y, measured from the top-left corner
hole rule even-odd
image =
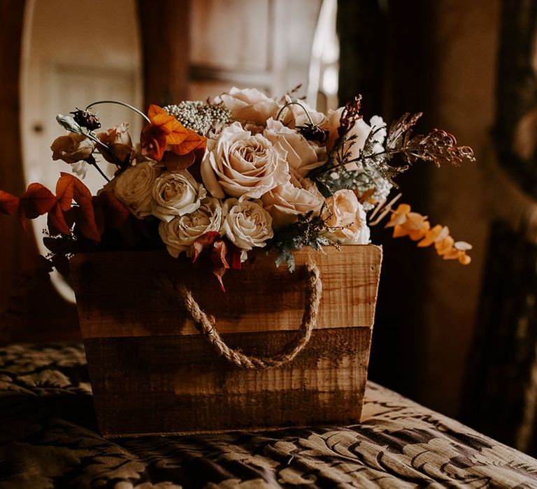
[[[219,356],[223,356],[229,363],[237,367],[250,370],[262,370],[279,367],[290,362],[308,344],[311,332],[317,323],[319,306],[322,295],[322,282],[319,268],[315,263],[307,265],[308,279],[306,288],[306,308],[302,316],[302,323],[294,339],[285,345],[283,349],[270,358],[248,356],[239,350],[229,348],[216,329],[215,321],[201,310],[198,302],[192,296],[192,292],[184,284],[173,284],[171,280],[164,279],[163,284],[171,293],[178,293],[186,311],[194,325],[205,339],[213,346]]]

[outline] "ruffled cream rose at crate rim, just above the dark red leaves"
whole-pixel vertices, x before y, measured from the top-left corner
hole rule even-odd
[[[171,221],[161,221],[159,235],[166,244],[169,254],[177,258],[181,251],[192,255],[192,244],[200,236],[210,231],[220,231],[222,228],[222,205],[217,198],[208,197],[201,205],[191,212],[177,216]]]

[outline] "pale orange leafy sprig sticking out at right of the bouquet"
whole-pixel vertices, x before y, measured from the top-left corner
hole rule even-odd
[[[471,245],[464,241],[455,242],[447,226],[437,224],[431,228],[427,216],[411,212],[408,204],[399,204],[399,207],[392,211],[392,218],[386,227],[394,228],[394,238],[408,236],[417,241],[420,248],[434,245],[436,253],[444,260],[458,260],[462,265],[471,262],[471,257],[466,254],[466,251],[472,249]]]

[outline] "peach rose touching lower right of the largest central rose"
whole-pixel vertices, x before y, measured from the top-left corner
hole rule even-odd
[[[304,178],[278,185],[262,197],[265,209],[271,214],[273,228],[281,228],[296,222],[299,214],[313,210],[318,212],[324,197],[313,182]]]

